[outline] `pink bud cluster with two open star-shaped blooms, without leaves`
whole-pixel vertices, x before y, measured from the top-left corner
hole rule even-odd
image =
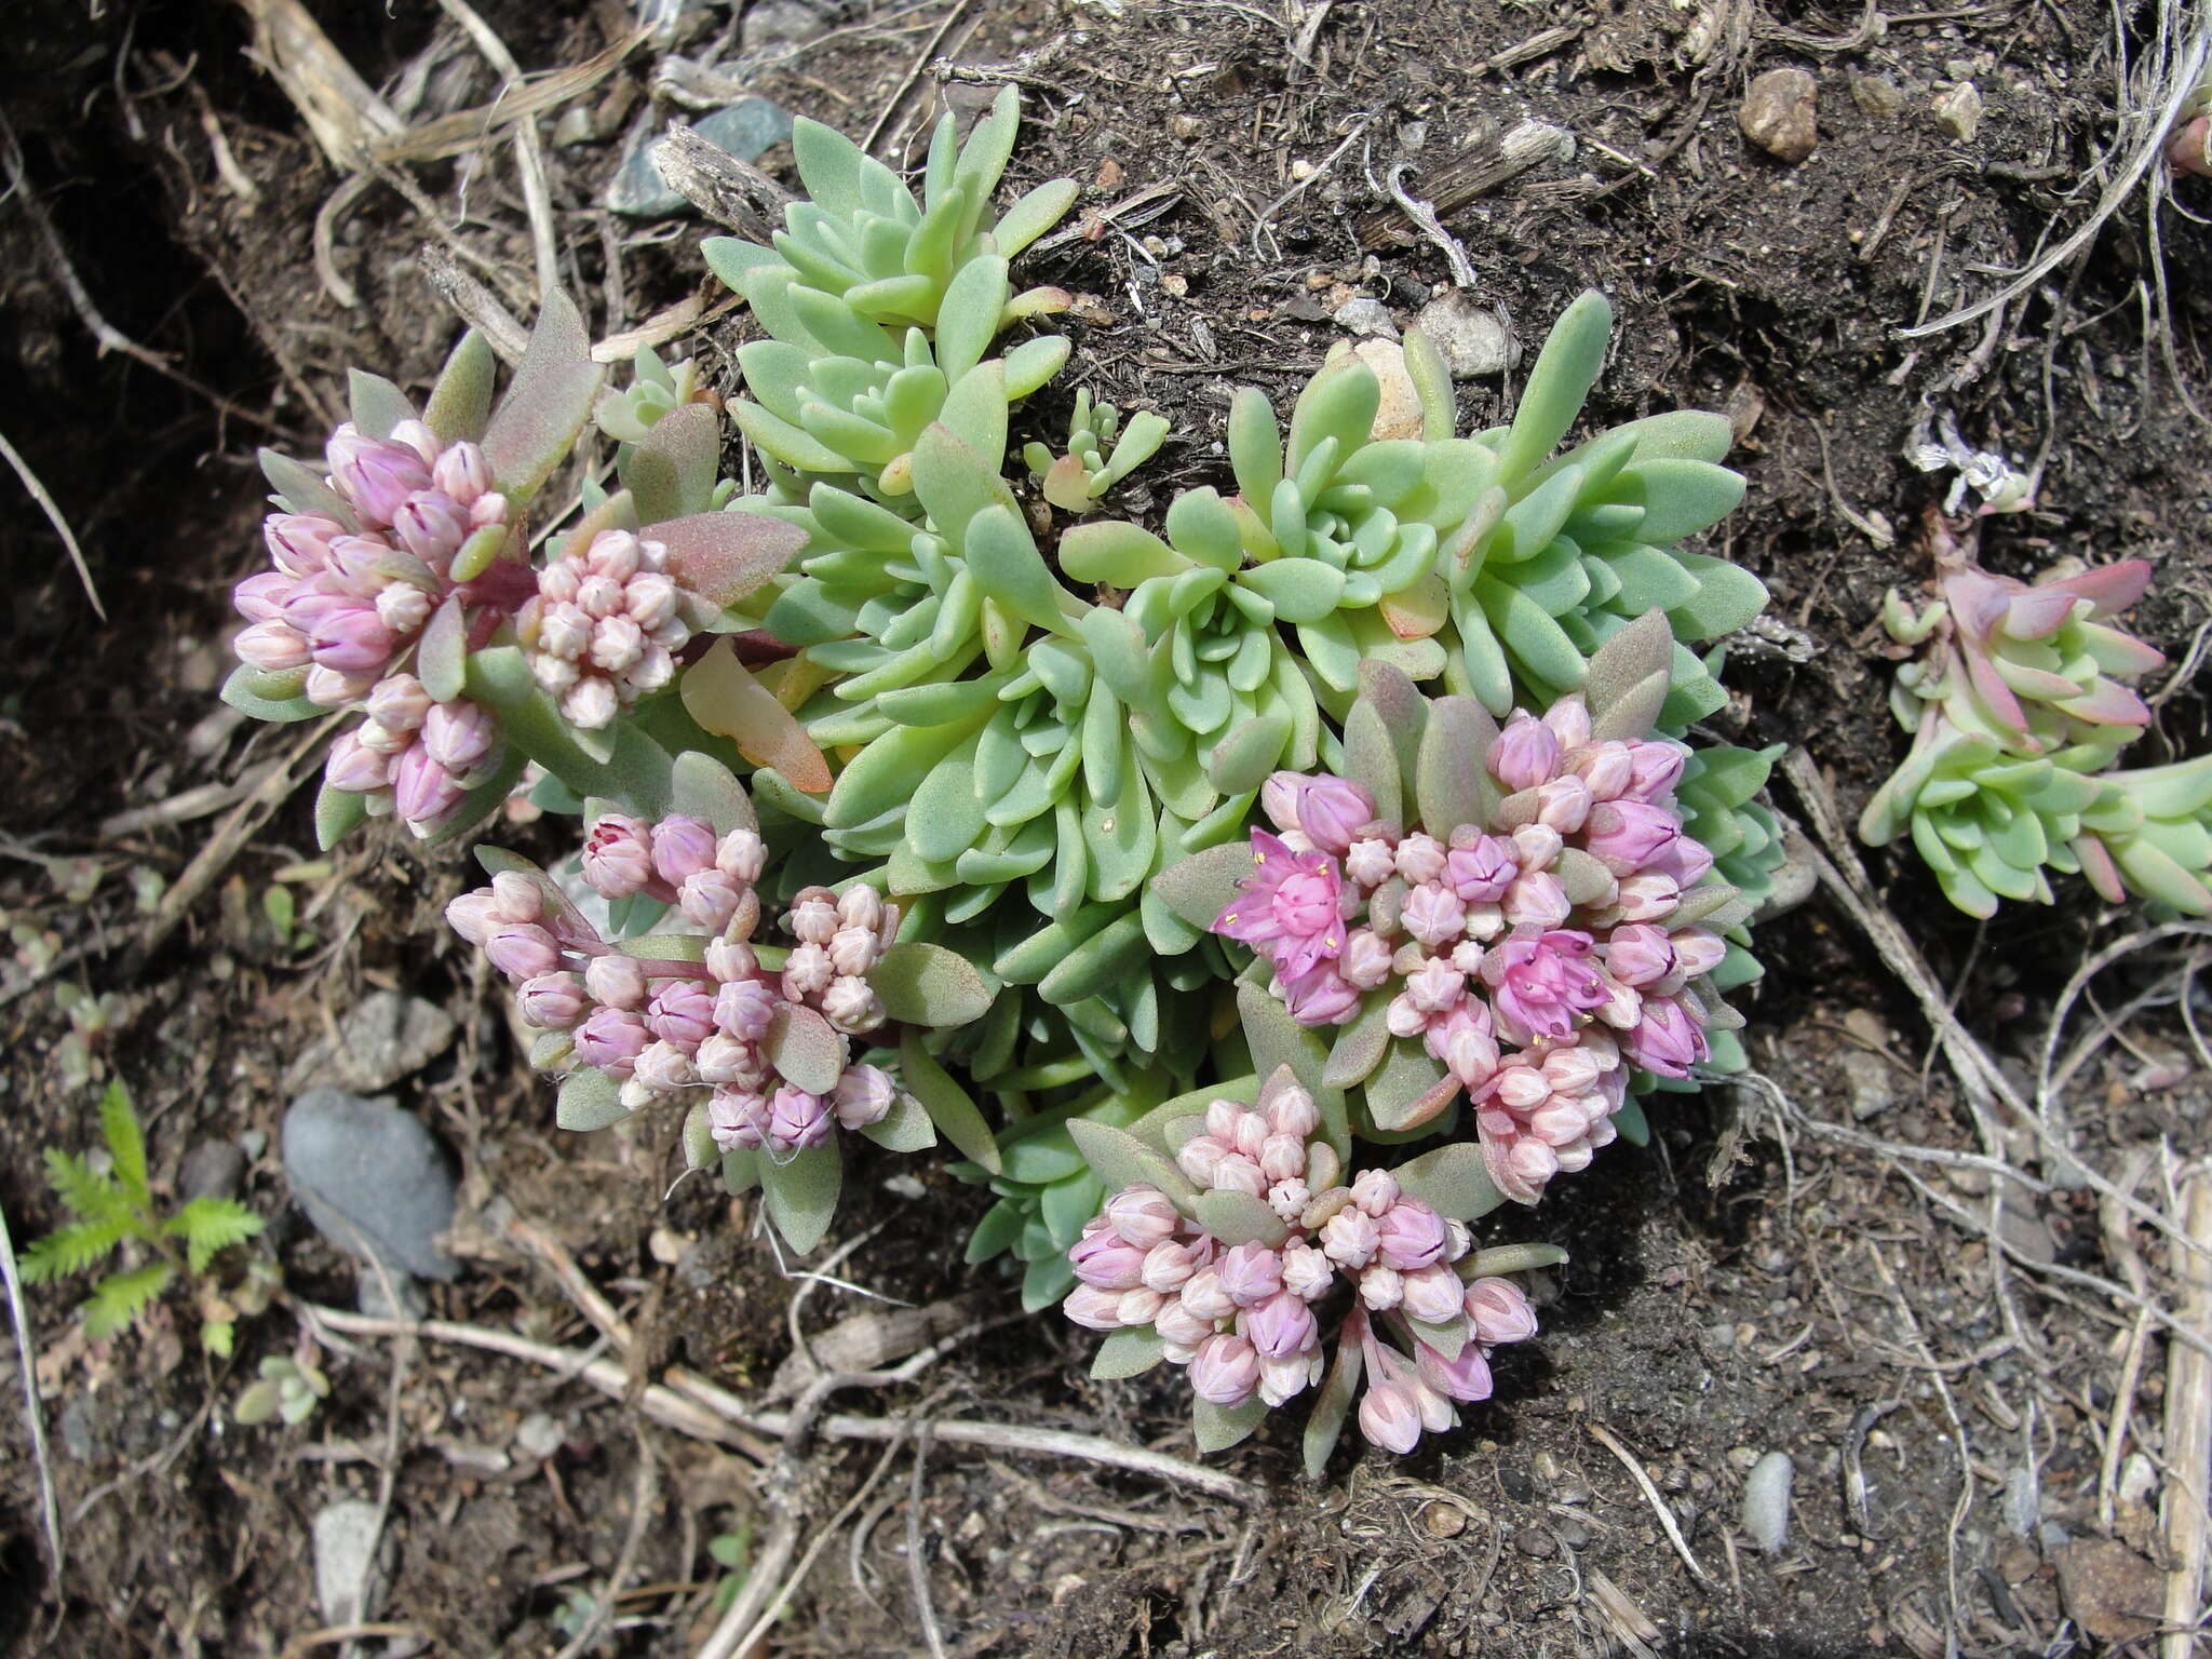
[[[1376,1000],[1475,1102],[1500,1186],[1533,1199],[1613,1139],[1630,1068],[1688,1077],[1725,940],[1670,925],[1712,854],[1674,805],[1683,750],[1595,741],[1579,695],[1491,741],[1495,812],[1407,830],[1340,776],[1274,774],[1254,874],[1212,929],[1261,951],[1292,1018]]]

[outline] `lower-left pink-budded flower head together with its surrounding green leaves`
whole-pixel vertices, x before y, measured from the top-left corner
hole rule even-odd
[[[794,1250],[812,1250],[836,1210],[838,1130],[900,1152],[942,1130],[995,1166],[975,1104],[916,1040],[984,1011],[975,971],[896,942],[898,907],[874,887],[812,887],[781,918],[763,914],[768,847],[743,787],[684,754],[672,794],[657,818],[593,812],[580,856],[588,894],[661,911],[666,931],[608,938],[613,909],[602,929],[557,880],[495,847],[478,849],[491,887],[447,909],[515,987],[540,1031],[531,1062],[562,1071],[560,1126],[686,1108],[690,1164],[719,1159],[732,1192],[761,1186]],[[889,1048],[894,1020],[905,1033]],[[863,1037],[876,1046],[856,1055]]]

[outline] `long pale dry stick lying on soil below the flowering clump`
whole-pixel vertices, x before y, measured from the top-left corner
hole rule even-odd
[[[347,1314],[312,1303],[301,1303],[299,1307],[305,1318],[345,1336],[427,1336],[436,1343],[482,1347],[542,1365],[549,1371],[588,1383],[617,1400],[628,1391],[628,1371],[617,1360],[593,1358],[591,1354],[551,1343],[533,1343],[526,1336],[511,1336],[482,1325],[462,1325],[445,1318],[372,1318],[369,1314]],[[672,1378],[670,1383],[648,1383],[646,1391],[637,1396],[637,1405],[655,1422],[664,1422],[679,1433],[745,1449],[750,1444],[748,1436],[783,1436],[790,1429],[790,1411],[750,1411],[730,1391],[688,1374],[681,1376],[684,1387],[679,1391],[675,1387],[679,1374],[670,1369],[668,1376]],[[914,1422],[911,1418],[836,1416],[823,1418],[814,1425],[814,1431],[832,1440],[880,1442],[907,1433]],[[1237,1475],[1183,1462],[1164,1451],[1124,1447],[1119,1440],[1106,1440],[1104,1436],[1075,1433],[1073,1429],[1031,1429],[1013,1422],[975,1422],[969,1418],[929,1418],[927,1422],[938,1442],[947,1447],[984,1447],[987,1451],[1009,1451],[1029,1458],[1079,1458],[1108,1469],[1126,1469],[1133,1475],[1192,1486],[1232,1504],[1254,1504],[1261,1498],[1259,1486]]]

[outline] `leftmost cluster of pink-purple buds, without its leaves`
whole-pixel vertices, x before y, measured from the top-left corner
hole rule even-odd
[[[232,599],[250,626],[234,648],[263,675],[303,675],[312,703],[365,708],[332,745],[325,776],[367,796],[369,812],[398,812],[427,832],[489,770],[498,728],[467,699],[434,701],[398,664],[440,604],[458,595],[478,617],[504,615],[529,575],[493,557],[509,509],[473,442],[445,445],[420,420],[389,438],[345,422],[325,460],[334,504],[352,522],[268,515],[274,568],[239,582]]]

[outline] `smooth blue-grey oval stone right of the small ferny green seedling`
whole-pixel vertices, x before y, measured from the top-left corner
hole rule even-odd
[[[451,1279],[453,1170],[418,1119],[387,1099],[310,1088],[283,1115],[283,1168],[316,1232],[389,1270]]]

